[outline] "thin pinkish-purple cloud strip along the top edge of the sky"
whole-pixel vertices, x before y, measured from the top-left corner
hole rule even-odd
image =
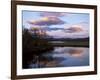
[[[55,17],[62,17],[65,16],[67,13],[63,12],[41,12],[40,16],[55,16]]]

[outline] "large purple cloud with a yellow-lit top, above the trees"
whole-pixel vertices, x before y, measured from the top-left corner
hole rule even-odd
[[[38,25],[38,26],[51,26],[51,25],[60,25],[64,24],[64,21],[61,19],[50,16],[50,17],[43,17],[39,20],[28,21],[29,24]]]

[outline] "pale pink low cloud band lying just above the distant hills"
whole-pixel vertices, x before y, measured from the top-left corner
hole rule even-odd
[[[53,38],[87,38],[89,37],[89,33],[87,31],[76,32],[76,33],[68,33],[63,30],[53,30],[47,31],[47,34],[52,36]]]

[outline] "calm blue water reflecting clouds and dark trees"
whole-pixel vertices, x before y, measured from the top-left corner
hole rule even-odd
[[[55,47],[53,51],[44,53],[33,59],[30,68],[88,66],[89,48],[87,47]]]

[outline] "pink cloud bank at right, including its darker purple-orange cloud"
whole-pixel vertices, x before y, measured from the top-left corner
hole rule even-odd
[[[54,38],[87,38],[89,30],[81,24],[67,25],[63,28],[48,30],[47,33]]]

